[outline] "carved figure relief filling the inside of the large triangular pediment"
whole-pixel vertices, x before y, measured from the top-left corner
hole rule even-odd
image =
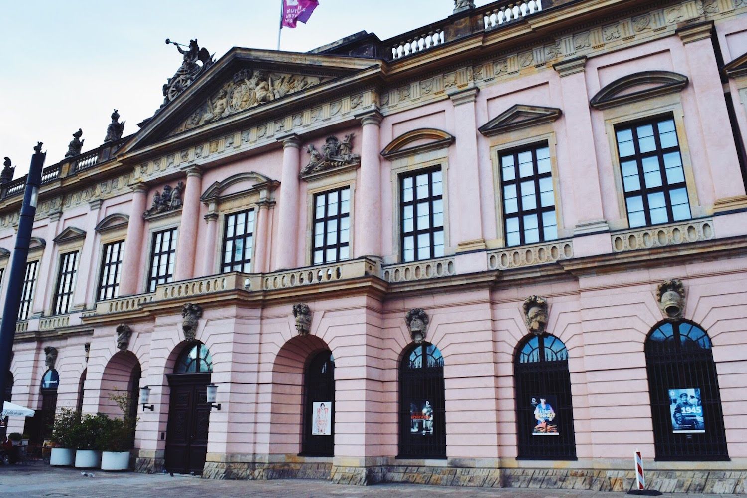
[[[191,113],[171,135],[306,90],[329,79],[331,78],[291,75],[263,69],[241,69]]]

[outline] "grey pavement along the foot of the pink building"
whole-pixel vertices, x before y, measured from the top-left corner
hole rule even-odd
[[[333,485],[326,481],[281,479],[276,481],[218,481],[193,476],[108,473],[49,467],[46,464],[0,466],[0,497],[518,497],[518,498],[623,498],[624,493],[552,489],[491,489],[381,484]],[[712,497],[718,494],[665,494],[664,498]]]

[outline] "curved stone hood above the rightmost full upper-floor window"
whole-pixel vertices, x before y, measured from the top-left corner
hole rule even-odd
[[[607,109],[651,97],[675,93],[687,85],[687,76],[672,71],[643,71],[618,78],[589,101],[592,108]]]

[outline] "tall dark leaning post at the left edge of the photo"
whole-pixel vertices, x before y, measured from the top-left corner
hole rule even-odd
[[[23,278],[28,260],[28,244],[31,241],[31,228],[34,228],[34,214],[37,212],[39,187],[42,181],[42,168],[46,152],[42,152],[42,143],[34,147],[31,157],[31,168],[26,177],[26,188],[21,205],[21,217],[18,222],[16,249],[13,251],[13,262],[10,264],[10,277],[7,281],[5,304],[0,325],[0,399],[5,401],[5,380],[10,370],[10,352],[13,351],[13,339],[16,337],[18,311],[21,307]]]

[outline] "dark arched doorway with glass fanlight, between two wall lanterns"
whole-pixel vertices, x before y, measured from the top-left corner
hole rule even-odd
[[[208,453],[210,405],[207,387],[213,358],[202,343],[189,343],[170,374],[166,468],[170,472],[202,473]]]

